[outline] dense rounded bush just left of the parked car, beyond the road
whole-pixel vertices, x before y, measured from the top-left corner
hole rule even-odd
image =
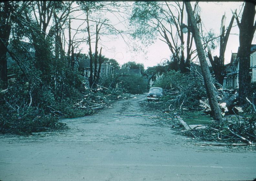
[[[127,93],[142,94],[147,90],[147,80],[137,75],[123,76],[118,81],[118,85]]]

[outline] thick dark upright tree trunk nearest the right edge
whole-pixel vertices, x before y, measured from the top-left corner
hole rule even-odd
[[[238,23],[239,27],[239,51],[238,51],[238,59],[239,59],[239,104],[243,105],[248,103],[246,98],[249,94],[249,69],[250,69],[250,54],[251,54],[251,42],[253,39],[253,35],[255,32],[254,23],[255,16],[255,2],[246,1],[243,9],[243,14],[241,18],[241,22]],[[237,18],[238,21],[238,18]]]

